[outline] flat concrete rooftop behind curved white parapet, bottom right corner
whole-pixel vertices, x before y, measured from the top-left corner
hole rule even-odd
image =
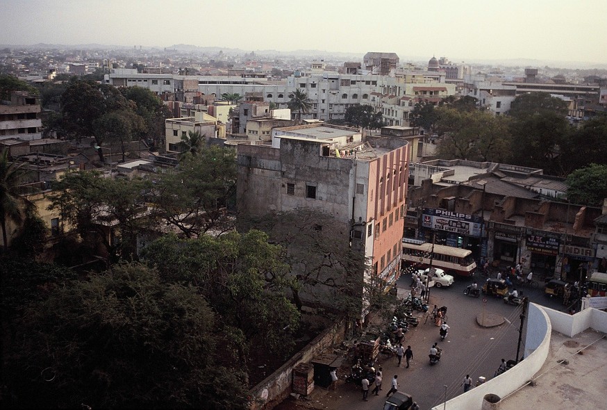
[[[553,331],[549,355],[533,386],[502,397],[499,409],[605,409],[606,357],[607,338],[600,331],[586,329],[574,338]]]

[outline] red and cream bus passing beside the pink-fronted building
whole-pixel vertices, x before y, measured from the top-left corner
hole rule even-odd
[[[428,268],[431,254],[433,254],[432,267],[441,268],[447,274],[472,276],[476,269],[476,262],[469,249],[434,245],[423,240],[403,238],[403,265]]]

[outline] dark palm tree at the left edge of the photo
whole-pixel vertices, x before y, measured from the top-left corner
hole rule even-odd
[[[17,164],[8,161],[8,149],[4,149],[0,153],[0,224],[2,225],[4,252],[8,249],[6,222],[8,220],[21,222],[22,220],[17,186],[24,174],[24,170],[21,170],[23,165],[25,163]]]

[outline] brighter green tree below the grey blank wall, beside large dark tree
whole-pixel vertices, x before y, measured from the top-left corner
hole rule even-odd
[[[286,354],[299,313],[285,297],[283,249],[267,239],[260,231],[188,240],[164,236],[144,249],[144,260],[163,280],[196,286],[224,325],[240,329],[247,343],[240,354],[256,349],[256,343]]]

